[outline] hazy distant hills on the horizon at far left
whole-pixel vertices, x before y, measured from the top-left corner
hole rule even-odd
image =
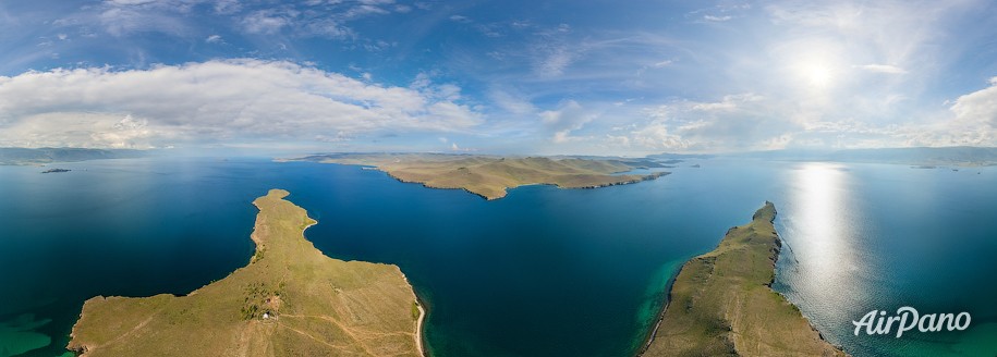
[[[44,164],[50,162],[137,158],[142,156],[145,156],[145,151],[82,148],[0,148],[0,164]]]

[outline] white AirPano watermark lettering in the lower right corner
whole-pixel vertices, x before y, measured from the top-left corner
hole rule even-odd
[[[855,325],[855,335],[859,335],[859,331],[862,331],[862,328],[865,328],[865,333],[870,335],[891,334],[893,328],[896,328],[897,338],[900,338],[904,332],[912,331],[915,328],[921,332],[962,331],[970,327],[971,320],[969,312],[925,313],[922,316],[917,313],[917,309],[910,306],[897,309],[897,315],[895,316],[887,317],[886,313],[885,310],[872,310],[863,316],[861,320],[852,321],[852,324]]]

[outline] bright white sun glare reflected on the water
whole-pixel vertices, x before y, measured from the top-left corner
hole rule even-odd
[[[840,328],[848,322],[836,321],[848,317],[841,311],[865,304],[860,292],[868,291],[856,286],[867,280],[855,275],[868,269],[858,248],[861,224],[852,224],[861,212],[852,205],[850,172],[839,164],[807,162],[789,175],[787,202],[777,207],[786,247],[776,288],[798,306],[806,301],[814,307],[810,318],[818,328]]]

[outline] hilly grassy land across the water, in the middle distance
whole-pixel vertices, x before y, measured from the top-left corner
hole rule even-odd
[[[333,153],[300,161],[375,167],[392,177],[431,188],[458,188],[486,199],[506,197],[507,188],[546,184],[596,188],[654,180],[667,172],[620,174],[641,164],[613,159],[493,157],[438,153]]]

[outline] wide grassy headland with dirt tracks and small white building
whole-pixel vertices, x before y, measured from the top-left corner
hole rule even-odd
[[[92,298],[69,347],[93,357],[418,356],[415,294],[398,267],[326,257],[302,234],[316,222],[287,195],[253,202],[248,266],[187,296]]]

